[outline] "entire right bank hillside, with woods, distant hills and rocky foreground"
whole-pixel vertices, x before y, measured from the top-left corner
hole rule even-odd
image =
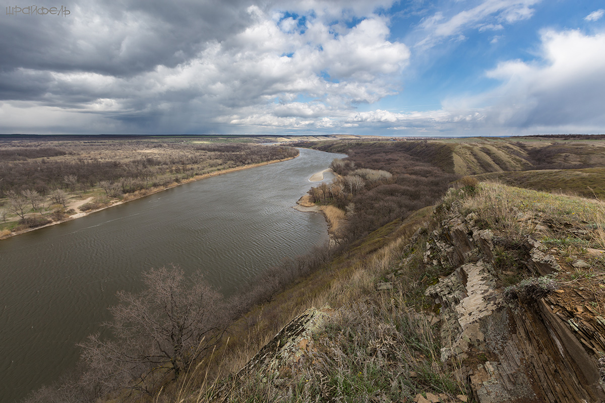
[[[348,154],[306,198],[332,248],[267,272],[176,382],[109,401],[605,401],[605,148],[524,141],[299,144]]]

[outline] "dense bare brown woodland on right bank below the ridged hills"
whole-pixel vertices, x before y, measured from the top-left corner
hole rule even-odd
[[[434,204],[459,177],[442,169],[447,155],[441,144],[359,142],[313,148],[348,154],[332,163],[339,178],[310,190],[313,201],[346,211],[347,224],[337,236],[348,242]]]

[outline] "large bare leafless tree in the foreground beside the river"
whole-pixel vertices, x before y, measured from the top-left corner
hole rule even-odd
[[[93,335],[80,345],[90,367],[85,383],[152,395],[223,336],[229,322],[223,298],[200,272],[185,279],[182,269],[171,266],[144,276],[145,291],[119,292],[120,305],[110,308],[114,319],[105,327],[113,340]]]

